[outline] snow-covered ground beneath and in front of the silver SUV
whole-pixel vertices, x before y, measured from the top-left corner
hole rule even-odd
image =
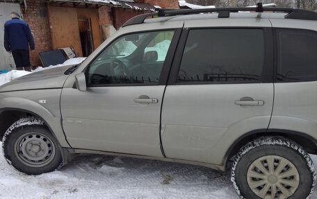
[[[0,148],[1,199],[238,199],[229,178],[202,166],[104,155],[78,155],[60,171],[31,176],[9,166]]]

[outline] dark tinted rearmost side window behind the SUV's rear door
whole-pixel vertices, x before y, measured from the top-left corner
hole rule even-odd
[[[317,33],[277,30],[277,81],[317,80]]]

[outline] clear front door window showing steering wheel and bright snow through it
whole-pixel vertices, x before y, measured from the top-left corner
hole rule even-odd
[[[157,85],[174,31],[133,33],[119,37],[90,64],[88,87]]]

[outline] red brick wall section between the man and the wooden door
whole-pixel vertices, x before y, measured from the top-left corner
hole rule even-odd
[[[21,6],[23,18],[29,24],[35,42],[35,51],[30,51],[31,66],[41,66],[38,53],[51,50],[51,35],[49,33],[49,19],[47,16],[47,6],[42,0],[26,1],[27,9]]]

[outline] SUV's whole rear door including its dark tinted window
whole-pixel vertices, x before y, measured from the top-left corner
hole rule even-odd
[[[202,23],[184,33],[186,44],[175,56],[179,65],[173,65],[163,100],[166,157],[221,165],[240,137],[266,132],[273,109],[273,40],[263,20],[258,25],[265,28]]]

